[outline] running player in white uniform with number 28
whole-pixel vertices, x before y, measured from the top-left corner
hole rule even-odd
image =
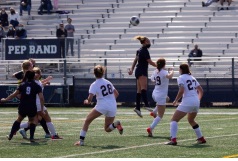
[[[80,131],[80,140],[74,145],[84,145],[84,139],[86,137],[90,123],[101,115],[105,116],[104,129],[106,132],[111,132],[117,128],[120,134],[123,133],[123,128],[120,121],[114,122],[117,112],[116,98],[118,97],[119,93],[110,81],[103,78],[104,73],[105,69],[103,66],[97,65],[94,67],[96,81],[90,85],[89,95],[88,98],[84,100],[84,104],[90,104],[94,96],[96,96],[97,104],[86,117],[83,128]]]

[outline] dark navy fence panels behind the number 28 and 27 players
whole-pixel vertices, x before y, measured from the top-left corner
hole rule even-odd
[[[108,79],[119,91],[117,102],[124,105],[134,105],[136,98],[136,79]],[[228,103],[229,106],[237,106],[238,102],[238,79],[231,78],[207,78],[197,79],[204,90],[201,106],[213,106],[214,103]],[[95,79],[73,78],[74,105],[83,105],[83,100],[88,97],[89,86]],[[154,84],[148,80],[148,100],[151,105],[155,104],[152,99]],[[171,101],[175,99],[178,92],[177,79],[169,82],[168,96]],[[93,100],[96,101],[95,98]],[[229,104],[230,103],[230,104]]]

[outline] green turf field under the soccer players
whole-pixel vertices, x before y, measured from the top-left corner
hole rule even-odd
[[[142,109],[143,110],[143,109]],[[17,118],[17,108],[0,108],[0,157],[1,158],[224,158],[238,157],[238,109],[201,108],[197,117],[207,143],[195,144],[196,136],[186,118],[179,122],[178,145],[164,145],[168,141],[170,118],[175,108],[167,108],[154,137],[147,136],[146,128],[153,118],[143,110],[139,118],[132,108],[118,108],[123,135],[117,130],[103,130],[104,117],[92,122],[85,139],[85,146],[73,144],[90,108],[48,108],[57,132],[63,140],[44,139],[43,129],[36,128],[36,143],[23,140],[17,133],[11,141],[6,135]],[[29,132],[28,132],[29,136]]]

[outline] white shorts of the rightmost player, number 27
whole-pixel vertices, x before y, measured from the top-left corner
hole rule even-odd
[[[192,112],[198,112],[200,107],[200,101],[197,98],[183,98],[182,102],[177,107],[177,110],[185,112],[185,113],[192,113]]]

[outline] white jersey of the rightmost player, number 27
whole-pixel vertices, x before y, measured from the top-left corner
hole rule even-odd
[[[177,78],[177,82],[179,87],[180,86],[184,87],[183,98],[187,97],[198,98],[197,87],[200,86],[200,84],[192,75],[189,74],[180,75]]]

